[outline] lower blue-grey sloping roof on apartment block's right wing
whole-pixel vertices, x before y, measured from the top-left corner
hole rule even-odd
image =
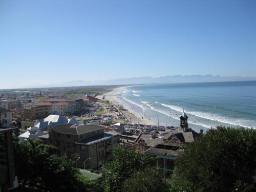
[[[76,142],[76,144],[84,144],[84,145],[91,145],[94,143],[98,143],[100,141],[108,140],[114,136],[120,135],[120,133],[115,132],[104,132],[104,134],[96,135],[94,137],[90,137],[88,139],[83,139],[79,142]]]

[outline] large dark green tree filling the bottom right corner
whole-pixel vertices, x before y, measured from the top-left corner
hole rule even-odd
[[[256,130],[218,126],[184,146],[173,181],[195,191],[239,191],[253,185],[255,160]]]

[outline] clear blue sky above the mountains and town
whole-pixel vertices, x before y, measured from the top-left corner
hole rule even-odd
[[[256,76],[256,1],[0,1],[0,88]]]

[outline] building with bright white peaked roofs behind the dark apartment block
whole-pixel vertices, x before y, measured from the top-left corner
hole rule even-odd
[[[29,127],[27,132],[23,133],[22,135],[19,135],[20,141],[26,141],[28,139],[35,139],[38,138],[38,136],[47,135],[48,129],[57,125],[57,124],[68,124],[68,123],[74,123],[79,124],[79,122],[73,118],[73,119],[67,119],[65,117],[59,116],[59,115],[49,115],[45,119],[42,120],[36,120],[34,126]]]

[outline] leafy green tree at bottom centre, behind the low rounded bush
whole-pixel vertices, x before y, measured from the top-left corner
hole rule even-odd
[[[140,154],[134,149],[117,147],[114,160],[106,163],[103,179],[104,191],[122,191],[122,184],[134,173],[144,170],[148,165],[155,165],[155,157]]]

